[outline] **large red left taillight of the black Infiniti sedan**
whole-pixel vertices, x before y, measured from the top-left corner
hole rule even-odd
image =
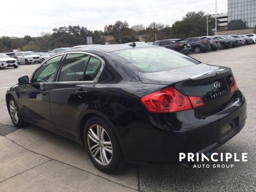
[[[140,100],[148,111],[157,113],[178,112],[192,109],[192,106],[197,107],[196,104],[191,105],[188,96],[173,87],[153,92],[143,96]]]

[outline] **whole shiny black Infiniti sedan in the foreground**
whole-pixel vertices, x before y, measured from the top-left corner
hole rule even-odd
[[[84,145],[106,173],[123,162],[177,163],[243,128],[246,100],[230,68],[170,49],[89,46],[45,60],[6,93],[16,127],[26,123]]]

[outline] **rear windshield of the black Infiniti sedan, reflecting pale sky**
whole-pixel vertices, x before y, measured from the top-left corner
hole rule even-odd
[[[199,64],[200,62],[176,51],[162,48],[134,48],[111,53],[114,58],[140,72],[157,72]]]

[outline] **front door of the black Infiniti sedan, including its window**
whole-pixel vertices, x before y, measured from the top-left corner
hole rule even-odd
[[[33,74],[30,84],[22,90],[25,118],[49,128],[54,127],[49,104],[50,90],[61,58],[56,56],[42,64]]]

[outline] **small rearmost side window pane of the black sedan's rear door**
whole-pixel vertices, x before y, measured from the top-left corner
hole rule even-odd
[[[93,81],[96,78],[97,74],[99,73],[100,68],[101,68],[100,60],[91,56],[88,66],[86,68],[84,80]]]

